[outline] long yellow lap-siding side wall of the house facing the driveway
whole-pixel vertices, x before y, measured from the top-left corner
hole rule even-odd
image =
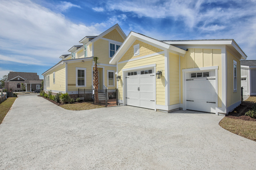
[[[55,71],[55,84],[53,84],[53,72]],[[66,74],[65,65],[63,64],[59,68],[52,70],[50,73],[50,87],[46,87],[47,90],[66,91]]]

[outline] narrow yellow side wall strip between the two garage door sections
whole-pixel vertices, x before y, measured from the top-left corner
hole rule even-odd
[[[179,55],[169,53],[170,105],[180,103]]]

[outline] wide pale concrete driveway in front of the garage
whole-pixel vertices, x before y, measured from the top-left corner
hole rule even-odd
[[[0,125],[0,169],[255,169],[256,142],[223,116],[138,107],[69,111],[20,96]]]

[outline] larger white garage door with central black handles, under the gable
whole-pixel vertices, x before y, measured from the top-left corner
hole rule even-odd
[[[155,71],[143,69],[126,74],[126,104],[155,109]]]

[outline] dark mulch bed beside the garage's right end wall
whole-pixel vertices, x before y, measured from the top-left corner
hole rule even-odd
[[[226,116],[232,119],[242,119],[245,121],[256,122],[256,119],[253,119],[250,116],[245,116],[245,113],[251,110],[254,104],[254,101],[242,101],[242,103],[238,107],[236,107],[232,112],[229,112]]]

